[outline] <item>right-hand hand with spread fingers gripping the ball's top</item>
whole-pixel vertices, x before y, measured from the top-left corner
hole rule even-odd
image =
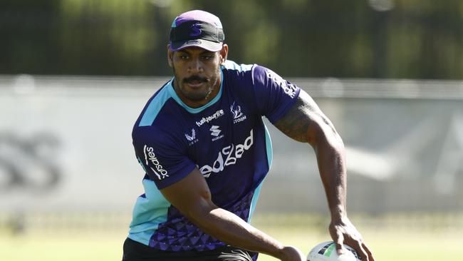
[[[362,257],[363,261],[375,261],[370,249],[363,242],[362,235],[360,235],[360,232],[358,232],[347,216],[339,220],[331,220],[329,230],[333,241],[336,243],[338,255],[347,251],[343,247],[343,244],[345,244],[353,247],[358,255]]]

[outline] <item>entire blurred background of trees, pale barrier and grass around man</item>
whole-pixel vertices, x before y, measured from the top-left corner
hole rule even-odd
[[[306,90],[343,137],[348,213],[377,260],[463,245],[463,1],[0,1],[0,260],[120,260],[144,175],[131,131],[171,76],[178,14],[224,25],[229,59]],[[329,240],[310,146],[267,124],[254,225]],[[263,256],[259,260],[274,260]]]

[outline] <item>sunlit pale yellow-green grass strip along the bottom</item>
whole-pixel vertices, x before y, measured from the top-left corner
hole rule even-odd
[[[285,217],[280,222],[274,220],[281,220],[281,218],[256,217],[253,223],[281,242],[295,245],[306,253],[318,242],[329,240],[328,232],[324,228],[325,219],[298,215]],[[458,260],[461,257],[459,251],[463,245],[461,237],[463,230],[449,229],[440,226],[439,220],[433,218],[430,220],[423,222],[427,225],[417,225],[419,221],[412,222],[414,225],[411,227],[406,224],[395,227],[390,222],[379,222],[374,226],[363,225],[363,222],[355,222],[356,220],[354,222],[358,224],[376,260]],[[359,225],[360,223],[362,225]],[[0,260],[121,260],[122,244],[126,233],[125,227],[120,229],[38,227],[19,235],[12,234],[8,229],[2,229],[0,230]],[[259,260],[276,259],[261,255]]]

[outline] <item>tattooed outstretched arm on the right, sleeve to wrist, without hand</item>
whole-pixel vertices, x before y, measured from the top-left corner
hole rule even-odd
[[[313,147],[331,216],[341,218],[345,215],[344,144],[333,123],[315,101],[305,91],[301,91],[293,108],[275,126],[288,137]]]

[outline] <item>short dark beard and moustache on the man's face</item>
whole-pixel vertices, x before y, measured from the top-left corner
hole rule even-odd
[[[172,68],[175,78],[175,89],[179,91],[184,98],[187,98],[189,101],[199,102],[204,101],[209,98],[214,87],[217,84],[220,75],[220,68],[217,68],[217,71],[209,78],[201,77],[197,75],[189,76],[188,78],[181,78],[175,68]],[[201,82],[203,86],[198,89],[192,89],[187,86],[187,83],[190,82]]]

